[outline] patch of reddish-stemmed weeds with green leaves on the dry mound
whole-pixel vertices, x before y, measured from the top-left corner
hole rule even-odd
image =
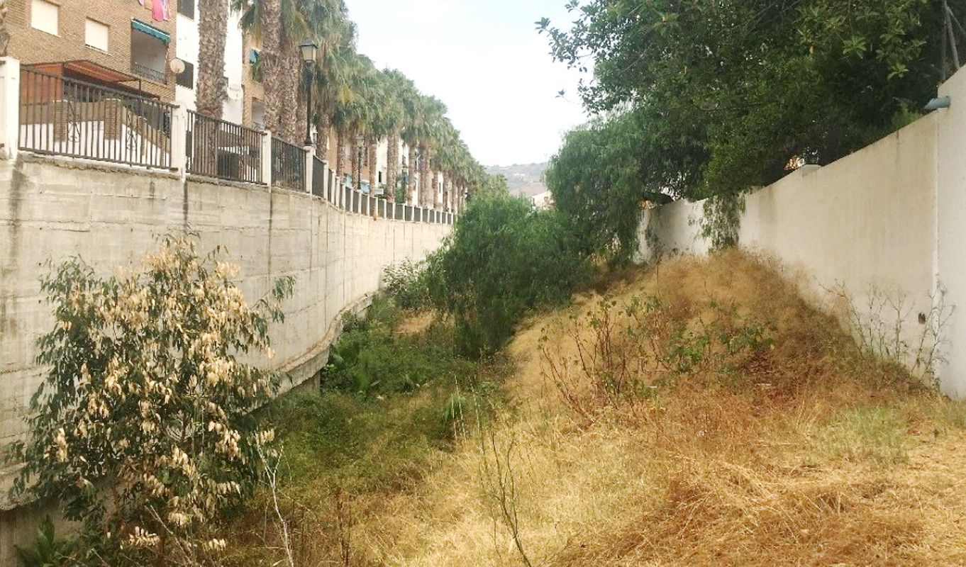
[[[773,326],[734,303],[697,302],[679,315],[658,296],[602,298],[583,319],[572,318],[576,357],[561,358],[546,343],[541,353],[564,400],[589,417],[683,378],[743,385],[742,368],[774,346]]]

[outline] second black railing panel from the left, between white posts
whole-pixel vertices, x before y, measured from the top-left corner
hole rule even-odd
[[[187,113],[187,172],[238,182],[262,183],[262,136],[192,110]]]

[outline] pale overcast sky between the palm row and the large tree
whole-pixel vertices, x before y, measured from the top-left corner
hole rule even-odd
[[[554,63],[535,21],[564,27],[567,0],[346,0],[358,50],[403,71],[483,165],[546,161],[582,124],[577,71]],[[566,99],[557,93],[566,90]]]

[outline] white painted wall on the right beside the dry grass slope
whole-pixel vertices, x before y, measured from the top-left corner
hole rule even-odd
[[[747,195],[739,243],[777,258],[813,304],[842,313],[901,302],[901,339],[917,344],[940,287],[957,306],[942,330],[943,390],[966,396],[966,70],[940,93],[952,107],[825,167],[807,166]],[[703,203],[641,214],[639,261],[707,253]],[[889,307],[887,306],[887,309]],[[867,313],[861,313],[867,315]],[[894,320],[895,315],[887,315]],[[895,322],[895,321],[894,321]],[[907,360],[910,365],[913,360]]]

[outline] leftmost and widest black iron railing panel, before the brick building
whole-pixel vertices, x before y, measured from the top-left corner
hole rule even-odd
[[[174,106],[60,75],[20,70],[19,148],[171,167]]]

